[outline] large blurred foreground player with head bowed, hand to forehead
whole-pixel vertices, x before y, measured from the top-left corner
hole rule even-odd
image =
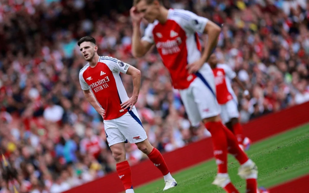
[[[214,74],[205,62],[215,48],[221,28],[206,18],[186,10],[167,10],[160,0],[134,0],[130,10],[133,21],[132,53],[144,56],[155,45],[170,72],[175,89],[192,125],[202,121],[212,136],[218,174],[213,184],[226,192],[238,192],[227,173],[227,153],[241,164],[239,175],[247,179],[247,192],[257,191],[257,167],[238,146],[233,133],[220,120]],[[142,18],[150,24],[141,39]],[[197,33],[208,34],[204,52]]]

